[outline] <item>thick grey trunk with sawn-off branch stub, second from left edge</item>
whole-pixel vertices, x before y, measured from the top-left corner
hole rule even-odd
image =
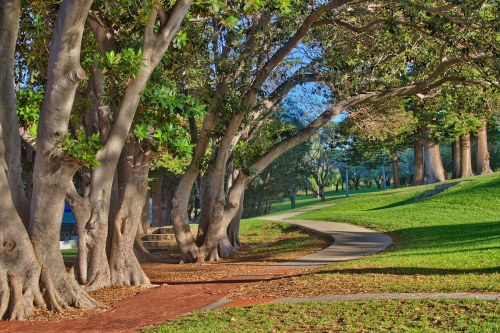
[[[93,307],[89,297],[67,274],[59,251],[59,230],[67,186],[80,162],[60,146],[68,130],[69,115],[78,83],[85,78],[79,64],[85,17],[91,0],[62,1],[51,36],[47,84],[40,108],[33,167],[29,234],[42,267],[63,304]],[[59,302],[56,300],[56,302]]]

